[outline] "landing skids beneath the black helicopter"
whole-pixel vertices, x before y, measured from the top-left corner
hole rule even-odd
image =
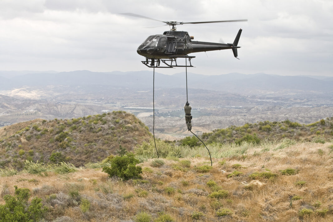
[[[185,66],[177,65],[177,60],[176,60],[177,58],[188,59],[189,65],[185,65]],[[146,61],[141,61],[141,62],[142,62],[142,64],[146,65],[149,68],[194,67],[191,64],[192,58],[195,58],[195,56],[169,56],[169,59],[146,58]],[[164,63],[165,66],[160,66],[161,61],[162,61],[162,63]],[[174,64],[172,64],[172,63],[174,63]]]

